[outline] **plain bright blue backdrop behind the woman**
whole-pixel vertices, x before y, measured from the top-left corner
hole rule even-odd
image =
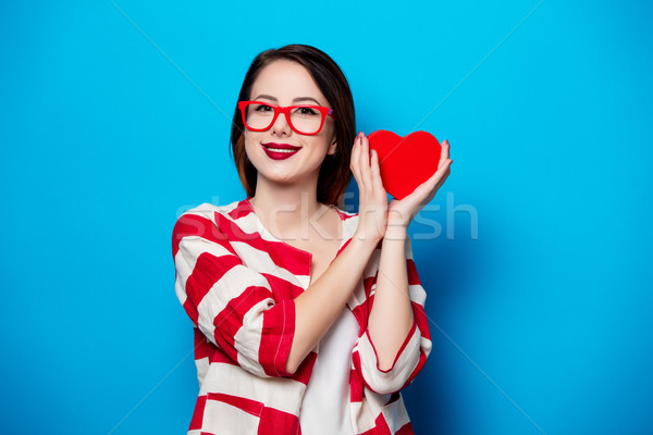
[[[185,432],[172,226],[243,198],[241,80],[304,42],[345,71],[359,129],[452,142],[411,227],[434,345],[405,390],[417,433],[653,433],[652,8],[537,5],[2,2],[0,432]]]

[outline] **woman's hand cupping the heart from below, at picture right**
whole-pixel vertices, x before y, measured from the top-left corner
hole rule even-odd
[[[412,221],[412,217],[427,204],[438,189],[444,184],[451,174],[451,164],[453,160],[449,158],[449,142],[442,142],[442,151],[440,154],[440,163],[438,171],[424,183],[420,184],[415,190],[403,199],[392,199],[387,210],[387,227],[406,229]]]

